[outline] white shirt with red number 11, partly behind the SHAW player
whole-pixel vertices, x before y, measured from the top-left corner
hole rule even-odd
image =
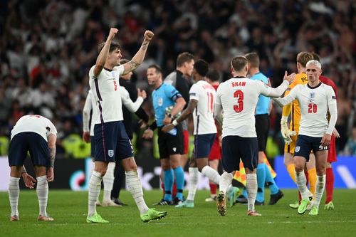
[[[205,80],[199,80],[189,90],[189,100],[198,100],[193,111],[194,135],[216,133],[214,122],[215,89]]]

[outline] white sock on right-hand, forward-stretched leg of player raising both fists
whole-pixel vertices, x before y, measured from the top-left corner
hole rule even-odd
[[[148,206],[143,199],[142,184],[140,178],[138,177],[137,171],[128,171],[126,174],[127,188],[130,191],[133,199],[135,199],[137,208],[140,211],[140,214],[145,214],[148,211]]]

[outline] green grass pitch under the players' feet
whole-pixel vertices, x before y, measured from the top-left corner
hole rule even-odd
[[[288,204],[296,200],[295,190],[283,190],[285,196],[275,206],[257,206],[263,216],[246,216],[245,205],[227,209],[219,216],[216,204],[206,203],[208,191],[198,191],[194,209],[158,206],[168,211],[167,218],[142,223],[135,203],[122,191],[123,207],[98,207],[108,224],[86,223],[88,192],[50,190],[48,213],[53,222],[37,221],[36,191],[21,190],[20,221],[9,221],[10,206],[6,192],[0,192],[0,236],[355,236],[356,190],[337,189],[335,210],[324,211],[324,199],[318,216],[298,215]],[[186,192],[184,192],[186,194]],[[187,194],[186,194],[187,195]],[[147,204],[159,201],[161,191],[145,191]],[[325,198],[325,194],[324,194]],[[266,201],[269,196],[266,196]]]

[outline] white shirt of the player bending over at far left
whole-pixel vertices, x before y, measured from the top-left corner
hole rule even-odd
[[[24,115],[11,130],[11,139],[21,132],[36,132],[43,139],[47,140],[50,134],[57,136],[56,127],[48,118],[41,115]]]

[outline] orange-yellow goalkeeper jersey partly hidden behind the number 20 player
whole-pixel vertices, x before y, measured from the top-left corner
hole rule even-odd
[[[287,88],[286,92],[284,93],[284,96],[287,96],[290,93],[290,90],[292,90],[295,85],[305,85],[308,83],[308,78],[306,73],[298,73],[295,75],[295,80],[293,83],[289,85]],[[300,125],[300,107],[298,100],[293,100],[289,105],[283,106],[282,110],[282,115],[288,117],[290,115],[290,130],[299,132],[299,125]]]

